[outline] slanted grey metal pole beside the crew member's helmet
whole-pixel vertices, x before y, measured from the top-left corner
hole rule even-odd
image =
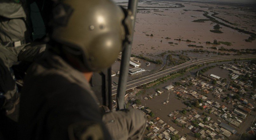
[[[133,31],[135,27],[135,19],[137,13],[137,5],[138,0],[129,0],[128,3],[128,10],[132,12],[132,32],[131,32],[131,39],[133,37]],[[118,79],[118,88],[117,88],[117,110],[121,110],[125,108],[125,91],[126,91],[126,84],[128,78],[128,69],[129,69],[129,61],[131,57],[131,45],[132,40],[130,42],[126,42],[124,45],[124,50],[122,52],[122,59],[121,59],[121,66],[120,66],[120,75]]]

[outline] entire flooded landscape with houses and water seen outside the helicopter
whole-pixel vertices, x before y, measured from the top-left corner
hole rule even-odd
[[[127,0],[115,2],[127,6]],[[130,69],[140,72],[129,74],[128,84],[138,84],[125,99],[127,108],[147,116],[145,140],[256,138],[255,6],[139,1]],[[239,56],[248,58],[233,58]],[[112,65],[113,93],[119,67],[120,59]],[[163,76],[137,82],[156,73]]]

